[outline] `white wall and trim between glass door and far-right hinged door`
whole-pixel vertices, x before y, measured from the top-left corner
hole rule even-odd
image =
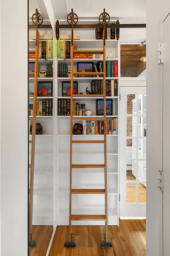
[[[168,4],[169,0],[161,2],[146,0],[146,256],[162,255],[162,192],[159,192],[157,187],[158,169],[162,169],[162,90],[161,65],[157,64],[157,47],[161,40],[161,35],[158,34],[158,20]]]

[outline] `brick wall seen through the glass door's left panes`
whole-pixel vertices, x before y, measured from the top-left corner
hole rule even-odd
[[[132,100],[135,99],[135,94],[127,95],[127,114],[132,114]],[[126,136],[132,136],[132,116],[127,116]],[[126,146],[132,147],[132,139],[126,140]]]

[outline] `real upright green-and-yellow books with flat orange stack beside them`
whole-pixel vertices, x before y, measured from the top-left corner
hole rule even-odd
[[[76,44],[74,49],[77,50]],[[57,59],[71,59],[71,41],[57,40]],[[93,54],[73,54],[74,59],[92,59]]]

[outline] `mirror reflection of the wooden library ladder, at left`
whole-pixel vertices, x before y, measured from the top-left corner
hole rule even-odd
[[[32,120],[32,140],[31,143],[31,164],[30,168],[30,187],[29,187],[29,246],[34,247],[36,242],[32,239],[33,232],[33,182],[34,182],[34,162],[35,162],[35,134],[36,134],[36,114],[37,114],[37,86],[38,86],[38,58],[39,58],[39,39],[40,33],[38,31],[39,15],[38,9],[36,15],[36,44],[35,44],[35,72],[34,72],[34,94],[33,96],[33,116],[29,117]]]

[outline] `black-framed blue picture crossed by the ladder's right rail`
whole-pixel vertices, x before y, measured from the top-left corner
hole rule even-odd
[[[96,100],[96,116],[104,115],[103,100]],[[113,100],[106,100],[106,115],[113,116]]]

